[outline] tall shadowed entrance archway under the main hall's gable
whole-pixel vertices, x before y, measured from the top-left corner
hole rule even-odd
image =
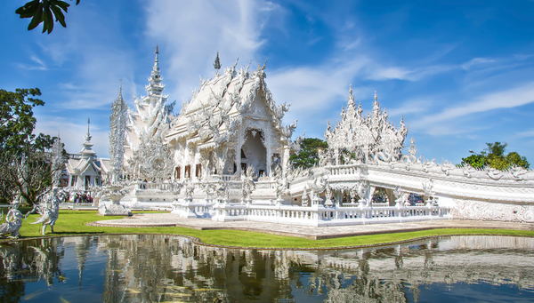
[[[267,148],[263,144],[264,134],[259,130],[247,130],[245,143],[241,147],[241,173],[252,166],[258,176],[267,173]]]

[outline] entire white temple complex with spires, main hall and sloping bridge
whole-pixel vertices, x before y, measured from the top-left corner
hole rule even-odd
[[[217,55],[214,76],[201,80],[178,116],[163,94],[158,47],[147,96],[134,97],[134,110],[126,110],[119,91],[110,154],[114,174],[130,182],[122,203],[172,205],[185,218],[312,226],[534,221],[534,171],[438,164],[417,157],[413,139],[403,154],[408,128],[403,119],[399,127],[388,121],[376,92],[372,112],[363,116],[351,88],[340,121],[326,125],[328,149],[319,165],[293,168],[289,155],[302,138],[292,140],[296,122],[282,123],[289,105],[274,101],[265,64],[252,71],[250,64],[236,66],[220,73]]]

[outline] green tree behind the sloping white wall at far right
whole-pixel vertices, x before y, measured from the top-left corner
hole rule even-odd
[[[506,147],[508,144],[501,142],[486,143],[487,148],[481,151],[480,154],[469,155],[462,158],[462,164],[469,163],[474,168],[481,168],[486,165],[505,171],[511,166],[521,166],[528,169],[530,163],[525,156],[519,155],[517,152],[511,152],[506,155]]]

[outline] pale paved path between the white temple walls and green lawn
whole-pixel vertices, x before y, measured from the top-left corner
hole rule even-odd
[[[100,227],[187,227],[198,230],[234,229],[260,232],[272,235],[291,235],[307,239],[328,239],[350,235],[373,235],[384,233],[398,233],[406,231],[425,230],[433,228],[496,228],[534,230],[532,223],[514,223],[475,220],[438,220],[409,223],[386,223],[352,225],[344,227],[306,227],[300,225],[239,221],[218,222],[211,219],[183,219],[179,215],[170,213],[134,214],[124,219],[102,220],[89,223]]]

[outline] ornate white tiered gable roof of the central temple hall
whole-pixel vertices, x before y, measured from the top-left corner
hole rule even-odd
[[[277,105],[265,84],[265,65],[248,72],[248,68],[226,68],[220,75],[201,80],[198,91],[190,102],[182,105],[180,115],[174,120],[167,140],[188,139],[201,142],[206,147],[222,145],[231,140],[245,116],[271,121],[282,138],[289,140],[296,128],[296,121],[282,124],[287,104]]]

